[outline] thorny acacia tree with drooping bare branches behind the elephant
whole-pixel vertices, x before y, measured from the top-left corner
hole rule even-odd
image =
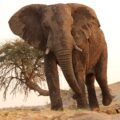
[[[27,95],[34,90],[39,95],[49,95],[41,88],[45,80],[42,57],[41,51],[20,40],[0,48],[0,89],[4,90],[4,98],[9,88],[13,94],[22,90]]]

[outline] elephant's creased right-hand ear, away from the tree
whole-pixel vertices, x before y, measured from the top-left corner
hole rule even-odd
[[[95,33],[95,27],[100,27],[94,10],[84,5],[73,5],[72,8],[72,17],[74,21],[72,28],[73,36],[76,37],[79,34],[89,39],[91,34]]]

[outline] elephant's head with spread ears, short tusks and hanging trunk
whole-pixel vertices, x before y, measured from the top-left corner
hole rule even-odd
[[[80,9],[81,7],[85,10]],[[81,10],[84,12],[83,14],[80,12]],[[86,11],[88,11],[88,15],[85,13]],[[91,18],[93,24],[98,24],[96,15],[82,5],[33,4],[16,12],[9,20],[9,25],[13,33],[30,45],[43,50],[46,55],[53,52],[69,85],[77,93],[80,93],[81,90],[77,84],[72,65],[72,51],[73,49],[81,51],[81,49],[76,45],[71,31],[74,33],[78,20],[82,18],[82,23],[79,26],[88,39],[90,33],[87,17]],[[72,30],[73,28],[74,30]]]

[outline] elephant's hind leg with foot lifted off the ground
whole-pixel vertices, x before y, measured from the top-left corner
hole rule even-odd
[[[107,50],[103,51],[95,67],[95,76],[102,91],[103,105],[107,106],[112,102],[112,97],[107,83]]]

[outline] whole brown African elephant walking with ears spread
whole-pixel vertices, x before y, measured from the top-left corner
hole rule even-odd
[[[32,4],[9,20],[14,34],[44,51],[45,75],[51,109],[62,110],[57,64],[74,91],[78,108],[99,108],[94,79],[101,87],[103,104],[112,101],[107,85],[107,45],[93,9],[81,4]]]

